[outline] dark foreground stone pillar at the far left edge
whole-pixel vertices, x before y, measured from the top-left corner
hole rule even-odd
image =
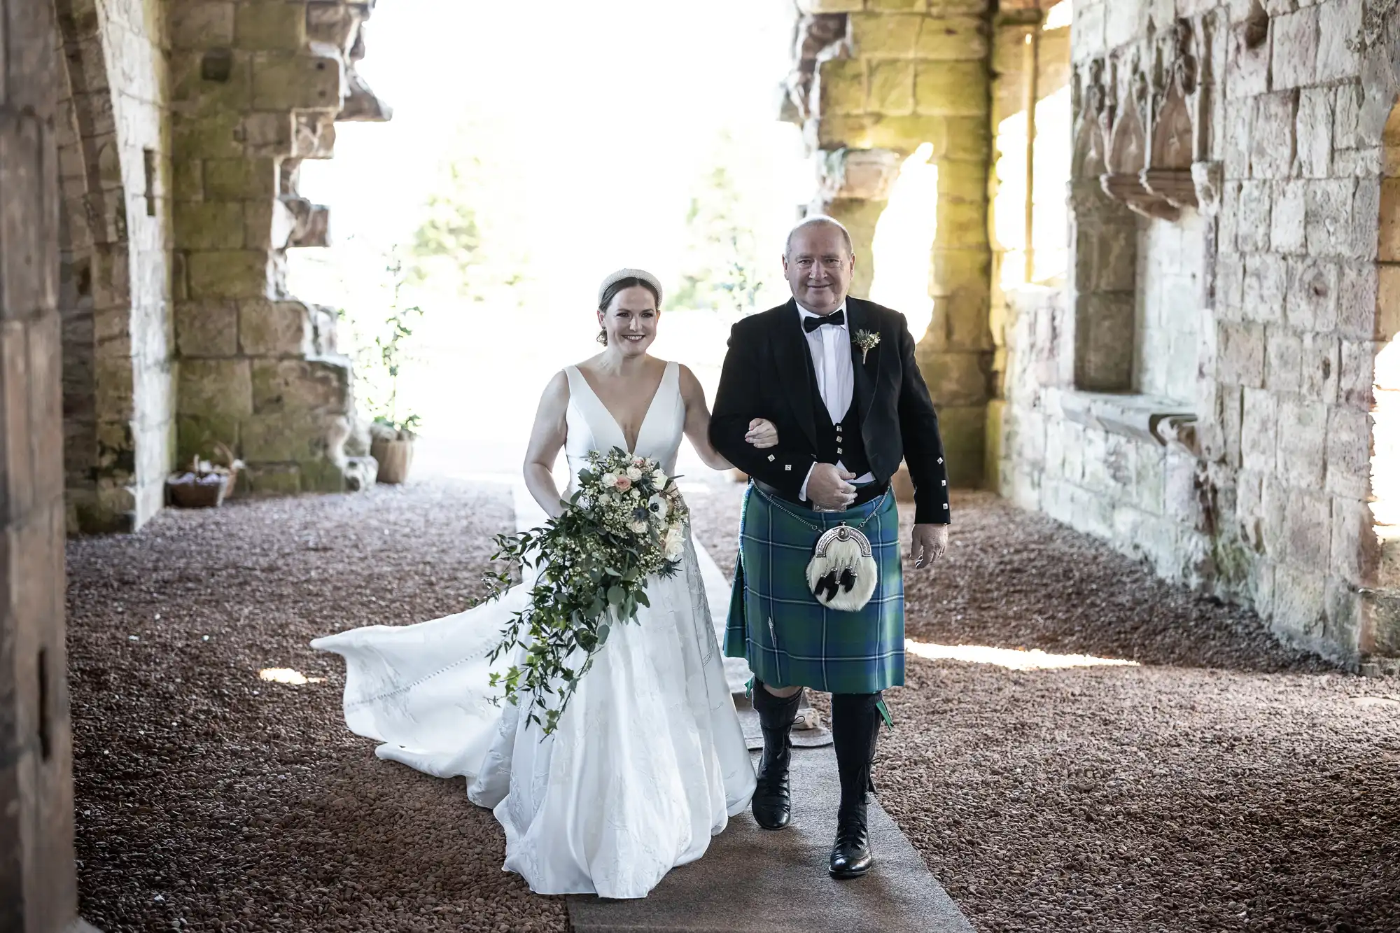
[[[0,929],[77,916],[63,646],[53,7],[0,0]]]

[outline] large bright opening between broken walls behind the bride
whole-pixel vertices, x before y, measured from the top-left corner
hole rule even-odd
[[[448,469],[518,472],[545,385],[599,350],[609,272],[662,280],[652,353],[690,366],[711,399],[739,314],[788,297],[783,237],[812,195],[801,130],[773,102],[791,0],[603,6],[381,3],[357,70],[393,119],[340,123],[335,158],[301,164],[333,241],[291,251],[288,284],[346,310],[356,405],[378,415],[388,377],[367,342],[398,256],[398,305],[423,314],[396,416],[451,444]],[[428,462],[423,444],[414,471]]]

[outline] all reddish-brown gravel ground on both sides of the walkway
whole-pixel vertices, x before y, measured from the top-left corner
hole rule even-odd
[[[732,567],[738,489],[692,496]],[[1400,682],[993,496],[909,635],[1137,667],[909,660],[881,801],[981,930],[1400,930]],[[906,516],[907,518],[907,516]],[[504,486],[168,511],[69,546],[84,915],[113,930],[564,930],[461,782],[344,730],[307,647],[480,598]],[[293,668],[312,682],[259,679]],[[316,681],[316,678],[323,678]],[[820,705],[820,698],[819,698]]]

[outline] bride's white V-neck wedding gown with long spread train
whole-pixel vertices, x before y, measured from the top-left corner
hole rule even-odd
[[[568,367],[570,476],[592,450],[626,448],[622,429]],[[685,424],[679,367],[668,363],[634,452],[673,472]],[[570,492],[574,486],[570,481]],[[566,493],[567,497],[567,493]],[[466,776],[472,801],[505,828],[505,869],[538,894],[640,898],[753,794],[753,768],[686,535],[683,569],[647,583],[651,608],[613,626],[553,735],[521,706],[490,702],[489,651],[526,600],[409,626],[374,625],[314,640],[346,658],[351,731],[379,758],[441,778]]]

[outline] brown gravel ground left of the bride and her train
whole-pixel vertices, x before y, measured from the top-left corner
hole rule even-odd
[[[504,486],[435,483],[71,542],[84,916],[106,933],[564,930],[563,899],[501,871],[500,828],[461,782],[346,731],[344,665],[307,647],[459,611],[512,524]]]

